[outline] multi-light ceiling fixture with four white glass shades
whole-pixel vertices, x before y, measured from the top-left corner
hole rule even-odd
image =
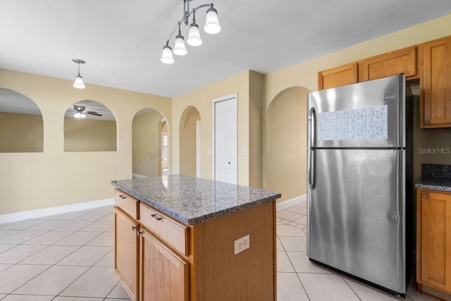
[[[216,8],[213,7],[213,4],[202,4],[192,8],[190,11],[190,1],[192,0],[183,0],[183,18],[178,21],[175,25],[174,29],[169,35],[169,39],[166,41],[166,45],[163,47],[163,55],[161,56],[161,61],[163,63],[173,63],[174,59],[172,54],[176,54],[178,56],[184,56],[187,54],[186,46],[185,46],[185,37],[183,37],[182,32],[180,31],[180,25],[185,23],[188,25],[188,18],[192,15],[192,23],[190,25],[190,30],[188,32],[187,43],[191,46],[199,46],[202,44],[202,39],[200,37],[199,25],[196,23],[196,11],[202,7],[209,7],[206,10],[206,20],[204,25],[204,31],[209,34],[216,34],[221,31],[221,26],[218,21],[218,12]],[[175,30],[178,29],[178,35],[175,36],[174,49],[169,46],[169,41],[173,36]]]

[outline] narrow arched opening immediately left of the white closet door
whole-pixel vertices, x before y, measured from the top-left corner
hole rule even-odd
[[[187,176],[200,175],[200,114],[196,107],[183,111],[179,125],[180,173]]]

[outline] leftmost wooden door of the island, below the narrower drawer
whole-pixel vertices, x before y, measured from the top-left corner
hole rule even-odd
[[[118,207],[114,208],[114,269],[132,300],[138,300],[139,225]]]

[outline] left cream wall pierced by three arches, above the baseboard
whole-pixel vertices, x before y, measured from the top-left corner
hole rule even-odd
[[[78,90],[72,83],[0,69],[0,87],[32,99],[44,119],[44,152],[0,154],[0,214],[110,198],[111,180],[132,177],[135,113],[154,108],[166,118],[171,131],[170,98],[89,84]],[[82,99],[101,102],[116,116],[117,152],[63,152],[62,116]]]

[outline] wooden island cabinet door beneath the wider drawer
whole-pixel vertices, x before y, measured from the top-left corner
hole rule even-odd
[[[140,259],[140,300],[189,300],[189,264],[144,228]]]

